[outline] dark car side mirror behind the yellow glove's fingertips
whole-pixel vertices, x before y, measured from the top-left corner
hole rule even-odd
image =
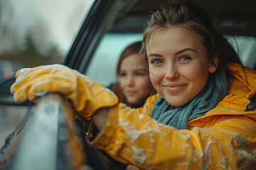
[[[33,102],[16,103],[14,101],[14,95],[11,94],[11,85],[14,84],[15,78],[4,79],[0,81],[0,105],[11,106],[32,106]]]

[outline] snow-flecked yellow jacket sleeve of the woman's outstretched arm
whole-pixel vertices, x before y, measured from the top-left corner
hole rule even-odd
[[[140,169],[255,168],[255,120],[216,116],[209,127],[177,130],[120,103],[90,145]]]

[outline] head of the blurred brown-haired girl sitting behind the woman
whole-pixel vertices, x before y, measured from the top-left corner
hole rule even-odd
[[[142,42],[128,45],[117,63],[118,82],[110,89],[117,94],[119,102],[131,108],[144,105],[146,98],[154,93],[143,57],[139,55]]]

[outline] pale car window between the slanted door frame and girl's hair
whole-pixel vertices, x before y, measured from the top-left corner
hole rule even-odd
[[[142,40],[142,33],[106,33],[85,75],[95,79],[104,86],[116,81],[116,67],[122,50],[132,42]]]

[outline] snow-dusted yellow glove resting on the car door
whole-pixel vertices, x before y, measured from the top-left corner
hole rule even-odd
[[[11,86],[16,102],[33,101],[49,92],[69,98],[82,118],[90,118],[97,109],[118,103],[112,91],[61,64],[21,69]]]

